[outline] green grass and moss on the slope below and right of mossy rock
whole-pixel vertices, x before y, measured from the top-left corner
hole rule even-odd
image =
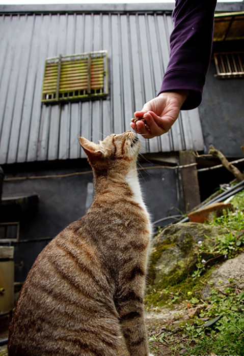
[[[146,305],[155,306],[161,299],[169,307],[181,304],[196,308],[198,313],[188,320],[182,320],[177,332],[175,325],[168,325],[168,332],[159,334],[165,340],[174,355],[238,355],[244,356],[244,290],[230,280],[228,287],[210,286],[211,292],[206,301],[201,299],[201,286],[208,283],[208,276],[216,265],[209,265],[202,254],[216,256],[217,262],[234,258],[243,252],[244,246],[244,192],[232,199],[235,212],[227,212],[220,218],[213,217],[207,223],[223,228],[223,235],[217,236],[214,244],[208,239],[200,246],[196,270],[185,281],[157,291],[146,297]],[[148,298],[148,300],[147,300]],[[160,340],[158,339],[158,343]]]

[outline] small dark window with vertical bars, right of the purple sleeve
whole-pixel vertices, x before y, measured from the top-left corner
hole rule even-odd
[[[244,77],[244,52],[214,53],[216,77]]]

